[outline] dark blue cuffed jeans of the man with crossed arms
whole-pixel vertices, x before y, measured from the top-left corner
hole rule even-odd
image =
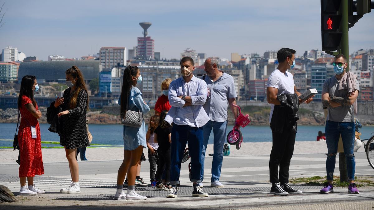
[[[201,151],[203,149],[203,127],[173,125],[171,132],[171,166],[170,183],[180,184],[179,175],[184,149],[188,142],[188,152],[191,157],[191,182],[200,183]]]

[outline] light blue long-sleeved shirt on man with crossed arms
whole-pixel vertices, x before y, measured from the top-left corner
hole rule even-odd
[[[184,106],[186,102],[178,96],[191,96],[192,105]],[[183,77],[173,80],[169,86],[169,104],[171,109],[165,120],[168,123],[174,122],[177,125],[188,125],[191,127],[202,127],[209,117],[203,109],[203,105],[208,97],[205,81],[193,76],[186,83]]]

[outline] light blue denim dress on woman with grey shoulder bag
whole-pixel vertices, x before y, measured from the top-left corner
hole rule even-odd
[[[137,87],[132,87],[129,94],[129,109],[131,111],[140,111],[143,114],[149,112],[149,106],[144,103],[142,94]],[[118,104],[121,104],[121,97],[118,100]],[[145,140],[145,124],[144,120],[140,128],[123,126],[123,146],[125,150],[134,150],[140,145],[147,147],[147,141]]]

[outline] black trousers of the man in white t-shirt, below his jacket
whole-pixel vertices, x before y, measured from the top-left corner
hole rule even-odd
[[[284,129],[283,133],[277,133],[272,128],[272,133],[273,147],[269,161],[270,182],[288,182],[289,163],[291,162],[292,154],[294,154],[296,133],[292,131],[292,127]]]

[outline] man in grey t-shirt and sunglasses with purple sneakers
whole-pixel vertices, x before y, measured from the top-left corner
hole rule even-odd
[[[320,192],[329,193],[334,191],[332,179],[335,169],[335,156],[341,136],[347,161],[348,180],[350,182],[348,192],[359,194],[355,184],[356,162],[353,154],[355,113],[353,104],[355,104],[360,88],[356,75],[346,72],[348,64],[344,55],[335,56],[332,65],[334,65],[335,76],[327,79],[322,86],[322,104],[324,108],[328,108],[325,127],[327,183]],[[345,81],[344,84],[343,81]]]

